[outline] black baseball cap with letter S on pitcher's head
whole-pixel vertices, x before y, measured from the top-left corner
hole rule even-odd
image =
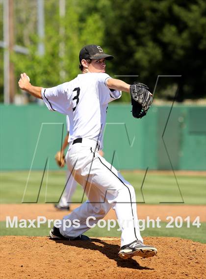
[[[106,54],[103,52],[103,49],[97,45],[87,45],[83,47],[83,49],[79,52],[79,62],[81,63],[82,59],[102,59],[105,58],[106,60],[111,60],[114,56]]]

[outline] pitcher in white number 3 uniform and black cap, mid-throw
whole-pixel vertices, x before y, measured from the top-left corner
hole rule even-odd
[[[19,86],[36,98],[43,99],[50,110],[69,116],[70,138],[66,163],[88,198],[71,214],[64,216],[63,221],[70,221],[72,226],[64,229],[62,222],[60,228],[52,228],[51,237],[88,239],[82,235],[89,229],[88,217],[93,216],[89,225],[97,224],[113,208],[122,230],[119,256],[150,257],[157,250],[143,244],[133,187],[97,152],[103,147],[108,102],[120,98],[120,91],[129,93],[130,88],[124,81],[105,74],[105,59],[112,58],[100,46],[85,46],[79,52],[82,74],[75,79],[46,89],[32,86],[24,73],[21,74]],[[75,225],[76,220],[80,226]]]

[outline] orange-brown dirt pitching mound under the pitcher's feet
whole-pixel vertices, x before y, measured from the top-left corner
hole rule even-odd
[[[0,237],[0,278],[194,278],[206,272],[206,245],[176,237],[145,237],[158,249],[148,259],[118,258],[119,238],[91,242],[57,241],[49,237]]]

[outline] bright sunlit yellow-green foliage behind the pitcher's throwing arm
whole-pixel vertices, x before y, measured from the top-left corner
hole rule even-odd
[[[27,1],[26,1],[27,3]],[[16,2],[16,11],[24,5]],[[33,7],[36,10],[36,7]],[[28,3],[27,10],[31,9]],[[28,55],[12,53],[11,59],[15,65],[16,81],[20,73],[26,72],[30,76],[31,82],[37,86],[52,87],[59,83],[69,81],[79,74],[79,50],[86,44],[103,42],[103,20],[96,12],[87,16],[82,22],[80,15],[83,13],[78,1],[66,1],[65,16],[59,16],[59,2],[56,0],[45,1],[45,38],[42,41],[45,47],[45,54],[39,55],[38,43],[40,39],[37,35],[35,25],[37,19],[33,20],[30,28],[25,31],[21,26],[26,25],[27,18],[20,17],[17,25],[23,32],[17,32],[16,43],[26,46]],[[35,18],[35,17],[34,17]],[[96,22],[96,25],[93,23]],[[29,35],[28,35],[29,33]],[[17,87],[18,88],[18,87]],[[21,91],[17,89],[19,93]]]

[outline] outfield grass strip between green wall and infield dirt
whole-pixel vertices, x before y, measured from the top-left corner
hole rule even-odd
[[[43,172],[33,171],[26,187],[28,173],[28,171],[19,171],[0,174],[0,203],[21,203],[24,192],[25,203],[37,201]],[[144,201],[150,204],[181,203],[182,195],[186,204],[206,204],[206,178],[204,176],[176,175],[180,194],[173,174],[148,172],[143,186],[143,172],[122,172],[122,175],[133,185],[138,203]],[[57,202],[64,189],[64,184],[65,171],[50,171],[45,174],[38,203]],[[78,185],[72,201],[81,203],[82,199],[85,200],[83,196],[83,190]]]

